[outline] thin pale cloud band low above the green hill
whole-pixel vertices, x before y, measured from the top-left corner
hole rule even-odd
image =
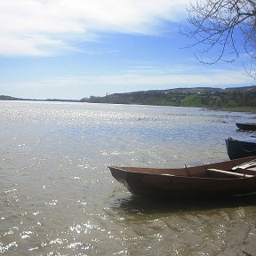
[[[90,81],[90,84],[101,85],[116,85],[119,86],[121,92],[124,92],[124,88],[137,87],[141,88],[151,87],[154,90],[177,88],[177,87],[234,87],[243,86],[244,84],[251,84],[252,78],[243,75],[244,70],[220,70],[212,69],[210,72],[201,70],[201,74],[195,72],[186,72],[186,67],[182,72],[174,70],[174,72],[162,72],[159,70],[148,70],[148,72],[136,72],[136,73],[124,73],[116,76],[98,76]],[[189,68],[188,68],[189,70]],[[147,89],[148,90],[148,89]]]

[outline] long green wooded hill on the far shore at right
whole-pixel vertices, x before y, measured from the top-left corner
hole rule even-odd
[[[80,101],[177,107],[256,109],[256,86],[228,89],[196,87],[124,92],[109,94],[104,97],[91,96]]]

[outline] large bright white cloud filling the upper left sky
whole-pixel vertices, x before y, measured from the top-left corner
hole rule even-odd
[[[1,0],[0,55],[44,56],[100,32],[154,34],[188,0]]]

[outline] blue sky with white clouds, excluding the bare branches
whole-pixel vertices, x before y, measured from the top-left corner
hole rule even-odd
[[[193,0],[192,0],[193,1]],[[189,0],[0,0],[0,95],[250,86],[243,60],[204,65],[180,34]]]

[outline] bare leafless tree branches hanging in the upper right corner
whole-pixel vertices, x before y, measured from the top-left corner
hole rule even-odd
[[[252,58],[248,72],[256,79],[256,0],[198,0],[190,4],[188,24],[180,30],[193,39],[188,47],[196,47],[197,60],[232,62],[246,52]]]

